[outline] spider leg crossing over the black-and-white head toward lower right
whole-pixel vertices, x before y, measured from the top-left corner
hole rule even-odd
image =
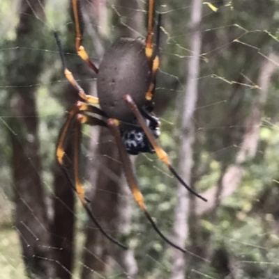
[[[176,177],[176,179],[179,180],[179,182],[181,184],[183,184],[183,186],[188,191],[190,191],[190,193],[193,193],[195,196],[197,196],[197,198],[200,198],[200,199],[204,200],[205,202],[207,202],[206,198],[200,196],[197,192],[195,192],[193,189],[191,189],[186,184],[186,182],[184,182],[182,180],[182,178],[178,175],[178,173],[176,173],[176,170],[174,170],[174,168],[170,164],[169,158],[167,157],[167,153],[163,150],[163,148],[160,148],[160,145],[158,145],[158,143],[156,142],[156,139],[154,138],[153,134],[151,133],[149,127],[147,127],[147,125],[144,121],[144,118],[142,118],[142,115],[141,115],[139,109],[137,109],[137,105],[133,101],[132,97],[130,97],[130,95],[124,95],[123,99],[126,102],[126,104],[128,104],[131,111],[133,111],[133,113],[135,114],[135,117],[137,118],[137,121],[140,123],[140,126],[144,130],[144,133],[146,134],[147,138],[149,139],[149,142],[151,143],[151,145],[153,146],[158,158],[161,161],[163,161],[163,163],[167,166],[167,168],[169,168],[169,170]]]

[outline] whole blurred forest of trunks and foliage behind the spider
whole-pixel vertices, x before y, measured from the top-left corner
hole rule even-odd
[[[116,38],[146,35],[146,1],[80,2],[96,65]],[[155,154],[133,163],[149,212],[186,255],[160,239],[133,201],[112,136],[84,127],[86,197],[129,250],[88,221],[54,156],[77,92],[53,31],[68,68],[96,95],[96,74],[75,52],[70,1],[2,0],[0,278],[278,278],[279,2],[161,0],[156,10],[159,141],[208,202],[189,196]]]

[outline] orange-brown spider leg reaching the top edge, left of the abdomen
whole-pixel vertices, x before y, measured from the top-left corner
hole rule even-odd
[[[82,58],[82,60],[85,61],[86,64],[89,65],[89,67],[91,67],[94,72],[96,72],[96,74],[98,74],[98,68],[90,61],[86,50],[82,46],[83,22],[80,12],[80,1],[72,0],[72,6],[75,22],[75,49],[77,50],[77,54]]]

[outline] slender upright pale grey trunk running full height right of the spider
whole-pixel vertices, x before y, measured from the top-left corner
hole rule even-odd
[[[194,139],[193,115],[197,104],[197,81],[199,77],[199,54],[202,44],[200,31],[200,21],[202,16],[202,1],[193,0],[190,27],[192,35],[190,38],[190,51],[192,56],[188,61],[188,78],[186,95],[183,99],[183,111],[181,111],[181,148],[179,157],[179,173],[184,181],[190,184],[190,174],[192,168],[192,143]],[[193,187],[193,185],[191,185]],[[188,237],[188,192],[183,185],[179,184],[177,189],[178,202],[174,222],[174,239],[176,243],[183,247]],[[194,207],[192,207],[194,208]],[[194,214],[194,209],[190,214]],[[193,221],[195,218],[193,218]],[[172,249],[172,279],[183,279],[186,271],[186,258],[183,253]]]

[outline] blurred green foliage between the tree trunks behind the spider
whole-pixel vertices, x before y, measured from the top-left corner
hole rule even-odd
[[[38,53],[43,54],[45,59],[36,100],[40,118],[43,182],[48,193],[52,193],[56,139],[65,117],[60,89],[61,80],[65,81],[65,78],[61,73],[61,61],[50,31],[59,30],[61,39],[66,40],[69,23],[66,1],[56,2],[49,1],[45,8],[47,27],[43,34],[38,34],[44,39],[43,47],[32,45],[27,40],[27,45],[31,47],[27,51],[29,56]],[[10,6],[8,1],[3,1],[0,5],[0,17],[3,19]],[[163,11],[165,9],[162,63],[156,90],[162,122],[160,144],[169,154],[174,166],[177,165],[179,153],[180,130],[177,123],[181,122],[177,109],[179,101],[176,100],[185,93],[185,65],[187,58],[192,55],[188,49],[190,8],[186,5],[188,4],[182,1],[172,1],[160,7]],[[202,24],[199,100],[194,119],[196,138],[193,169],[194,178],[197,178],[195,187],[199,192],[215,186],[223,167],[234,163],[243,139],[244,120],[258,95],[255,85],[258,83],[260,65],[271,50],[276,54],[278,52],[278,1],[233,1],[231,5],[234,6],[228,4],[218,7],[217,13],[209,12],[209,8],[204,7],[206,14]],[[184,18],[187,20],[181,20]],[[1,26],[2,22],[3,20],[0,22]],[[13,45],[16,23],[17,17],[14,16],[11,24],[13,26],[1,36],[1,65],[6,65],[13,59],[13,48],[22,50],[26,47],[23,42]],[[70,51],[66,51],[67,58],[77,58]],[[70,65],[71,63],[69,62]],[[6,72],[6,67],[0,67],[0,129],[3,131],[0,137],[0,183],[1,195],[5,196],[13,209],[10,202],[13,196],[11,146],[8,144],[8,132],[12,125],[7,124],[12,114],[6,82],[6,76],[10,72]],[[81,79],[82,83],[86,83],[82,74]],[[271,79],[266,106],[262,107],[264,116],[257,153],[255,158],[248,159],[243,164],[246,173],[241,184],[232,196],[222,200],[216,215],[217,221],[212,221],[211,212],[197,217],[199,233],[202,235],[202,244],[198,248],[204,252],[211,244],[214,260],[211,264],[202,262],[193,266],[190,278],[198,278],[198,272],[200,278],[225,278],[220,275],[218,255],[227,256],[231,262],[236,262],[237,278],[276,278],[275,275],[279,272],[279,239],[275,229],[278,226],[279,191],[278,88],[276,76]],[[13,130],[17,131],[17,127]],[[84,134],[89,134],[88,130]],[[176,205],[176,180],[155,154],[140,155],[136,168],[140,189],[149,211],[160,229],[166,235],[171,235]],[[86,220],[86,214],[80,208],[76,216],[79,220]],[[151,226],[137,207],[133,210],[132,232],[129,237],[130,246],[135,248],[140,266],[138,278],[169,278],[172,255],[167,250],[168,246],[156,233],[151,232]],[[83,245],[80,241],[79,246],[82,248]],[[14,231],[1,230],[0,255],[0,278],[24,278],[20,248]]]

